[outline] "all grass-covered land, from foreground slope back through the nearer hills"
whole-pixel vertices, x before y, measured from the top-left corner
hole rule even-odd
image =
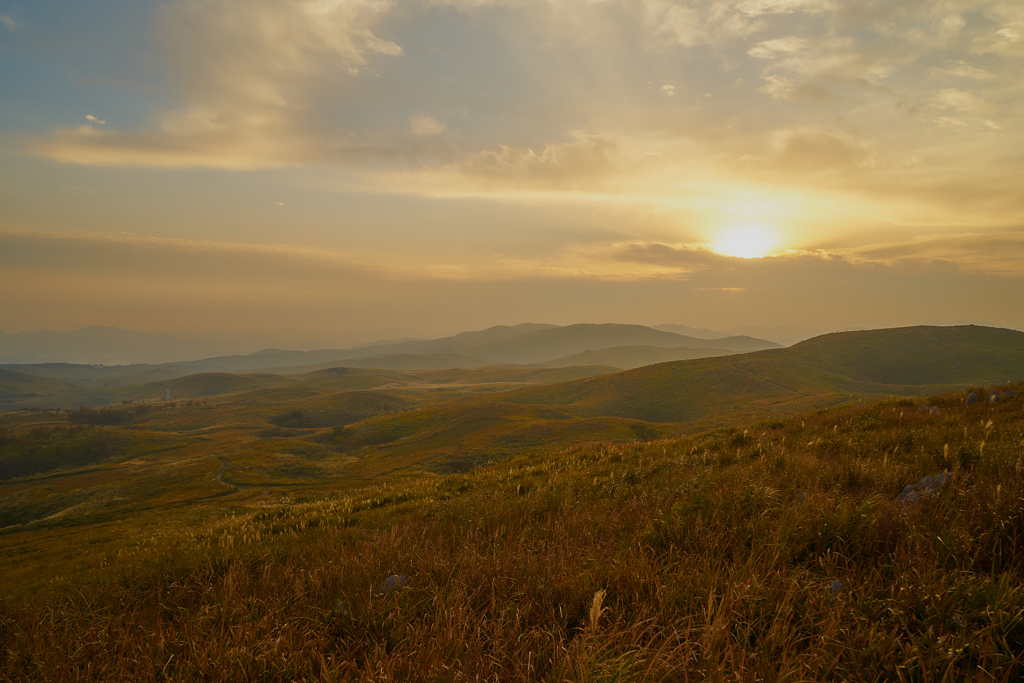
[[[0,680],[1021,679],[1020,337],[935,330],[0,414]]]

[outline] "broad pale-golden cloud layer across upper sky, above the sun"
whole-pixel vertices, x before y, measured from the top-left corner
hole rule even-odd
[[[178,103],[33,144],[67,163],[317,167],[338,171],[332,189],[652,211],[727,211],[730,183],[757,183],[1005,224],[963,198],[1019,175],[1019,70],[977,41],[1016,40],[1021,17],[994,0],[855,4],[176,0],[157,24]]]

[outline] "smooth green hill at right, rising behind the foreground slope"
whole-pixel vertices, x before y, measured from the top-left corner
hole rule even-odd
[[[1024,377],[1024,333],[900,328],[825,335],[791,348],[681,360],[511,392],[504,401],[581,416],[687,422],[767,405],[840,402],[852,394],[919,395]]]

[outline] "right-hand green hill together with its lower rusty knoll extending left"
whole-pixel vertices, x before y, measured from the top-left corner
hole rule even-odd
[[[540,433],[534,439],[510,437],[528,434],[532,424],[517,407],[542,410],[535,419],[561,420],[566,426],[598,418],[641,421],[651,434],[663,434],[672,431],[666,431],[670,423],[702,428],[865,397],[922,395],[1021,378],[1020,332],[968,326],[838,333],[791,348],[664,362],[381,416],[335,430],[333,443],[346,452],[373,447],[374,457],[403,453],[406,443],[420,443],[424,458],[440,457],[442,446],[451,453],[495,454],[504,444],[507,453],[513,441],[515,447],[545,442]],[[594,438],[614,438],[610,424]]]

